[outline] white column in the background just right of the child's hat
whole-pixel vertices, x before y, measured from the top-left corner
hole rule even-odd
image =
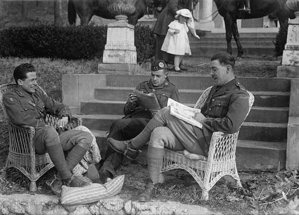
[[[193,11],[194,18],[198,21],[195,22],[195,29],[211,31],[215,27],[214,21],[212,21],[212,7],[213,0],[200,0],[196,4]]]

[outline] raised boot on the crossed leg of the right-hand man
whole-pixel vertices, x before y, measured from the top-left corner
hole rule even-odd
[[[131,160],[134,160],[140,152],[140,150],[133,149],[131,147],[131,140],[118,141],[110,137],[107,141],[114,151],[124,154],[127,158]]]

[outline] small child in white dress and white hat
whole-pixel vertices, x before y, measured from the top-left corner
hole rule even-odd
[[[191,54],[188,31],[199,39],[194,29],[194,20],[190,10],[180,9],[176,11],[176,20],[170,22],[169,29],[164,39],[161,50],[174,54],[174,70],[181,72],[179,63],[182,61],[185,53]]]

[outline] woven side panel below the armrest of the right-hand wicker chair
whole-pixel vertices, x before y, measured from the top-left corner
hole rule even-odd
[[[210,161],[227,161],[236,157],[236,146],[239,131],[233,134],[223,132],[213,132],[208,162]]]

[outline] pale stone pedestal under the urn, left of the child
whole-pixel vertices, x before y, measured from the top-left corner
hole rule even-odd
[[[98,65],[98,73],[134,74],[138,71],[134,28],[127,22],[108,24],[103,63]]]

